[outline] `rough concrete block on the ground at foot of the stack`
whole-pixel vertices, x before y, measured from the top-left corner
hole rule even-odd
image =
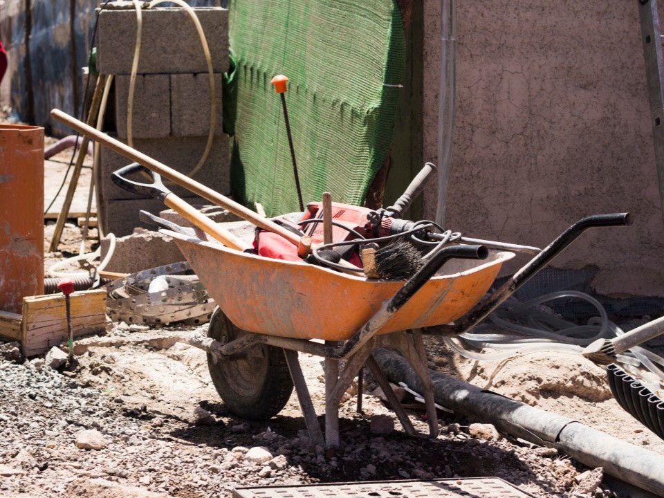
[[[101,241],[102,258],[106,257],[110,246],[109,238],[104,237]],[[118,273],[136,273],[184,260],[185,257],[172,237],[153,230],[136,228],[126,236],[116,238],[116,248],[111,261],[104,269]]]

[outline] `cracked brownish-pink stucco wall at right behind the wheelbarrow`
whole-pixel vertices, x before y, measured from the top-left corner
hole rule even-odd
[[[434,162],[440,3],[425,0],[423,147]],[[600,295],[662,297],[664,219],[636,2],[458,3],[446,228],[543,247],[583,216],[629,211],[630,228],[586,232],[552,266],[598,267],[590,284]],[[435,212],[430,185],[425,215]]]

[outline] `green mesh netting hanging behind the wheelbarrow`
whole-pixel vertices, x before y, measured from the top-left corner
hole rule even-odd
[[[234,68],[225,80],[225,129],[234,133],[231,183],[268,215],[297,210],[281,100],[270,80],[288,76],[288,116],[304,202],[359,204],[387,156],[405,39],[393,0],[231,0]]]

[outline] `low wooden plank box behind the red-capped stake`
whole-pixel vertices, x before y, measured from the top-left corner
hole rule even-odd
[[[106,331],[106,291],[72,293],[73,336]],[[26,356],[45,353],[68,340],[65,298],[48,294],[23,298],[23,313],[0,311],[0,338],[21,342]]]

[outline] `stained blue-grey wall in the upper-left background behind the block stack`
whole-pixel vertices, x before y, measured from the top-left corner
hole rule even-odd
[[[26,12],[28,3],[30,16]],[[0,84],[0,104],[12,107],[19,119],[46,127],[47,133],[59,136],[71,133],[62,124],[50,120],[49,113],[57,107],[79,116],[85,86],[80,68],[87,65],[95,8],[102,3],[102,0],[0,2],[0,39],[8,53],[7,73]],[[225,0],[189,0],[187,3],[192,7],[224,6]],[[26,30],[30,32],[28,46]],[[27,65],[31,70],[30,89],[26,81]]]

